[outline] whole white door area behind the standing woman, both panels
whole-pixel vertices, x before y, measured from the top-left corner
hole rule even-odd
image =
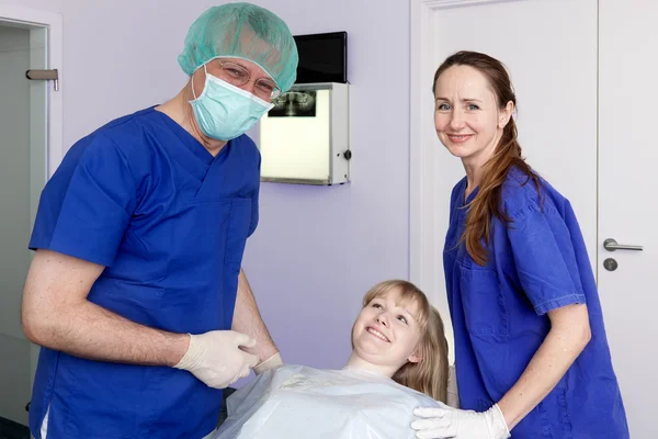
[[[655,438],[658,382],[658,2],[413,1],[411,280],[447,316],[442,247],[450,190],[464,171],[433,132],[430,86],[465,48],[506,63],[527,161],[571,200],[598,275],[631,437]],[[638,250],[609,251],[605,239]],[[617,268],[609,271],[614,259]],[[451,340],[452,341],[452,340]],[[452,345],[451,345],[452,346]]]

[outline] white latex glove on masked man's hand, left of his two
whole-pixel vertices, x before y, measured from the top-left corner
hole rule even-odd
[[[208,387],[224,389],[248,376],[258,357],[240,346],[253,348],[256,340],[234,330],[190,334],[190,347],[174,368],[190,371]]]

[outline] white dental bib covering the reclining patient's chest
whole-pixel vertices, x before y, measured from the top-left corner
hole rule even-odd
[[[363,370],[284,365],[228,398],[228,419],[213,439],[412,439],[419,406],[443,405]]]

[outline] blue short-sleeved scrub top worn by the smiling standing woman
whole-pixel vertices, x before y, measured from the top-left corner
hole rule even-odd
[[[513,223],[492,219],[489,259],[478,266],[460,238],[466,178],[452,192],[443,261],[455,336],[462,408],[486,410],[519,380],[551,329],[546,313],[587,304],[592,338],[557,386],[513,430],[512,438],[628,438],[601,304],[574,210],[546,181],[512,169],[502,206]]]

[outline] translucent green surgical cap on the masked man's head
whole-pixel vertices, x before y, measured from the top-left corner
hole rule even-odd
[[[228,3],[205,11],[190,27],[179,55],[183,71],[217,57],[243,58],[265,70],[282,91],[297,77],[297,46],[283,20],[251,3]]]

